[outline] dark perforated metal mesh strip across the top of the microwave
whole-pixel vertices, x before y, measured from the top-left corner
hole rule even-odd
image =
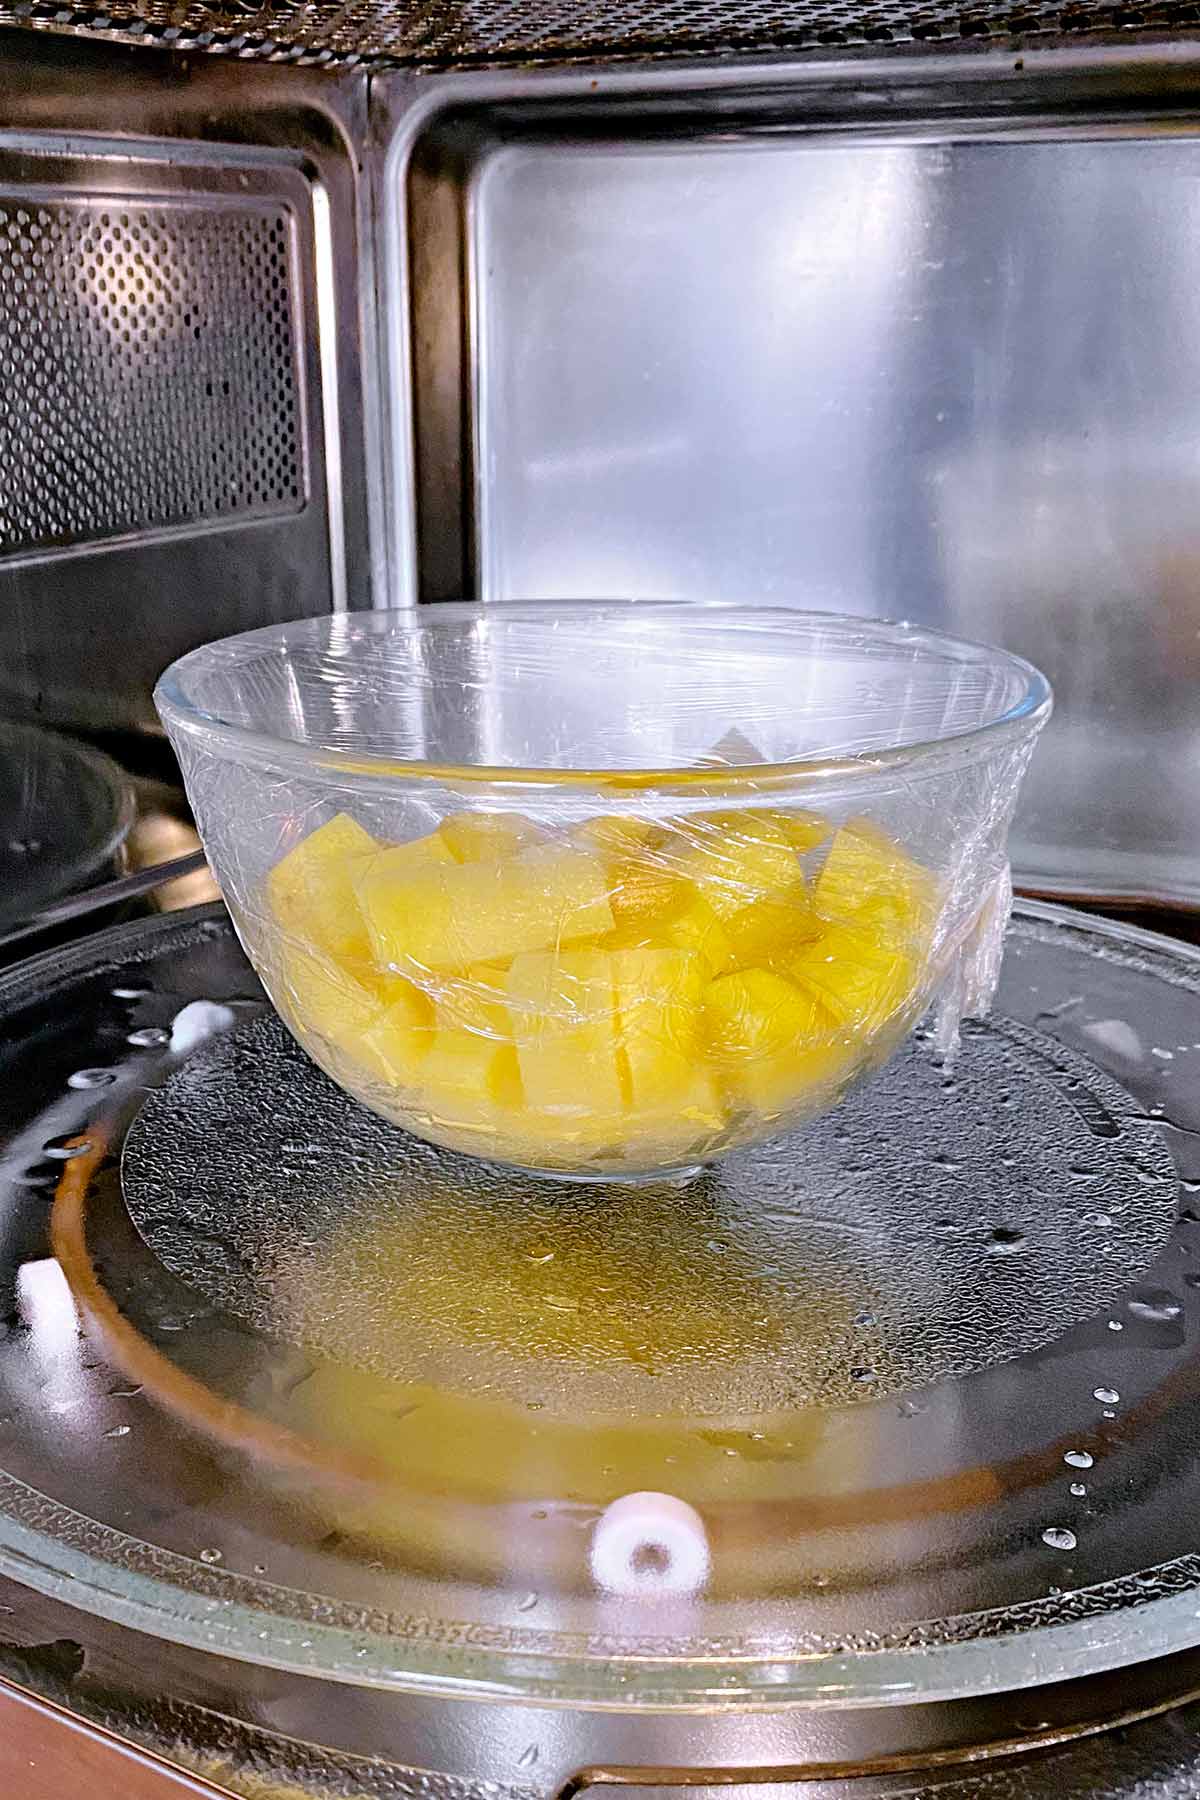
[[[540,59],[698,56],[1184,32],[1195,0],[9,0],[36,23],[302,63],[486,67]]]

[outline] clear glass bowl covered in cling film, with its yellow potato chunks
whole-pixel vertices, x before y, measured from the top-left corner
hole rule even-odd
[[[542,603],[184,657],[157,704],[309,1055],[421,1138],[687,1170],[986,1006],[1036,670],[909,625]]]

